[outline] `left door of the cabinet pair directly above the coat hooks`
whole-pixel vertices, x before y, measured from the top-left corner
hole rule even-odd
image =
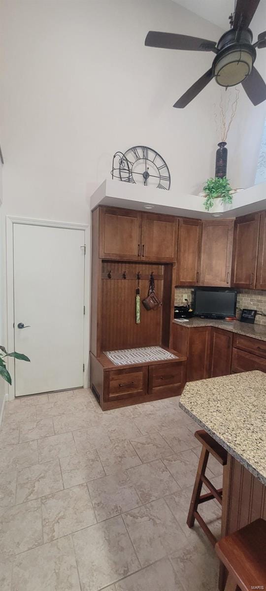
[[[100,207],[99,257],[140,260],[141,212]]]

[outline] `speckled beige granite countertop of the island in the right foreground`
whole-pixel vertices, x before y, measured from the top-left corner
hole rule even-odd
[[[187,382],[180,407],[266,485],[266,374]]]

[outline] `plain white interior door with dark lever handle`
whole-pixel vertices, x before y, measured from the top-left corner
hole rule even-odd
[[[85,232],[13,228],[15,395],[82,387]]]

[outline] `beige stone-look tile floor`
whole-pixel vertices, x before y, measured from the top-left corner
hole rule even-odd
[[[105,413],[84,389],[7,402],[1,591],[216,591],[213,548],[186,525],[196,428],[178,398]],[[207,476],[220,486],[220,465]],[[219,537],[216,501],[200,512]]]

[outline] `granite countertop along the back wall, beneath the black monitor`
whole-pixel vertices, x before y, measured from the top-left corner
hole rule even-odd
[[[239,320],[209,320],[203,318],[190,318],[188,322],[173,320],[175,324],[180,324],[186,328],[195,326],[215,326],[217,329],[229,330],[238,335],[250,336],[252,339],[266,340],[266,326],[262,324],[246,324]]]

